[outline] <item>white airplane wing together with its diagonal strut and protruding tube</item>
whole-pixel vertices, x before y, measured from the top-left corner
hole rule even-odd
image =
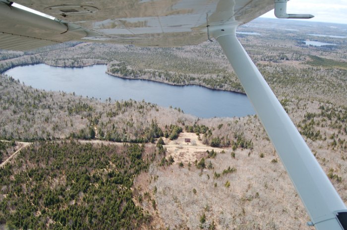
[[[0,0],[0,48],[32,49],[70,40],[185,46],[214,37],[238,79],[317,230],[347,230],[347,208],[275,94],[237,41],[235,30],[287,0],[17,0],[54,19]],[[66,4],[68,3],[68,4]]]

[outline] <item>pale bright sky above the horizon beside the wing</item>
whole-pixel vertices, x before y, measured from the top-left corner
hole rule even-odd
[[[347,0],[289,0],[287,13],[313,14],[315,22],[347,24]],[[261,17],[276,18],[274,10]]]

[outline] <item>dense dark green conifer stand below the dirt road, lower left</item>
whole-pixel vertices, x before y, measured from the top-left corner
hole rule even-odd
[[[133,178],[147,170],[143,145],[37,142],[0,170],[0,224],[15,229],[142,229]],[[3,196],[5,195],[5,196]]]

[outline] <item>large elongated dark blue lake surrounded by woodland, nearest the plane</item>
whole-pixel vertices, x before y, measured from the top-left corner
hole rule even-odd
[[[200,86],[172,86],[139,79],[123,79],[105,73],[106,65],[53,67],[46,64],[19,66],[4,74],[25,85],[46,91],[115,100],[145,100],[160,106],[179,107],[201,118],[241,117],[255,114],[246,95]]]

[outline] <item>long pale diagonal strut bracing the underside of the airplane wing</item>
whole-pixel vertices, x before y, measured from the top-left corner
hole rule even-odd
[[[317,230],[344,230],[346,206],[288,114],[235,35],[235,25],[211,26]],[[339,214],[341,214],[339,216]],[[343,219],[343,218],[341,218]]]

